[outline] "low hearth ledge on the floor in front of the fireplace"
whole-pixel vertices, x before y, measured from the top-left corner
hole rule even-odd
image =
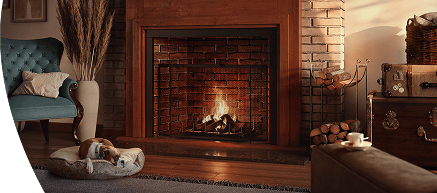
[[[120,148],[138,147],[146,155],[301,166],[305,166],[310,159],[310,154],[305,146],[288,147],[247,142],[215,142],[165,137],[134,138],[120,136],[115,139],[114,146]]]

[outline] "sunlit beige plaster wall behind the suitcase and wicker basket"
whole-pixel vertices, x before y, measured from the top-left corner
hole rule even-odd
[[[356,60],[368,58],[368,91],[381,92],[381,64],[406,63],[406,22],[437,11],[436,0],[347,0],[345,3],[345,69],[355,71]],[[359,71],[360,77],[363,71]],[[365,121],[365,78],[358,85],[358,119]],[[345,90],[345,117],[355,119],[356,87]]]

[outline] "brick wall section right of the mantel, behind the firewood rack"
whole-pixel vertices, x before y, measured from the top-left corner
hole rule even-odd
[[[302,143],[309,144],[310,92],[312,95],[312,128],[323,123],[344,119],[344,89],[323,88],[323,117],[321,88],[312,81],[310,64],[344,68],[344,0],[302,1]],[[320,68],[319,68],[320,69]],[[318,77],[317,71],[314,74]]]

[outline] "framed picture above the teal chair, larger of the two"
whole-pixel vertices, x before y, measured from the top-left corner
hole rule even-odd
[[[10,0],[10,22],[47,21],[47,0]]]

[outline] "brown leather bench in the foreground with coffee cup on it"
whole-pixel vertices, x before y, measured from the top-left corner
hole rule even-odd
[[[312,149],[311,193],[437,193],[437,174],[374,147]]]

